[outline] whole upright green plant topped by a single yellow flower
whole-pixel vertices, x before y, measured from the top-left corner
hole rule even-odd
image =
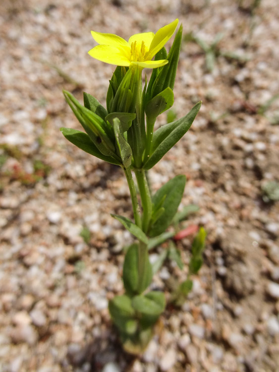
[[[153,265],[149,260],[149,250],[171,237],[176,236],[179,240],[186,236],[177,237],[178,224],[197,210],[197,206],[188,206],[177,212],[186,183],[184,175],[175,176],[155,193],[147,178],[148,170],[187,132],[201,107],[201,102],[198,102],[178,120],[176,115],[172,115],[170,123],[154,131],[157,117],[173,105],[182,26],[169,53],[164,46],[177,24],[178,19],[156,34],[136,34],[128,42],[116,35],[92,31],[99,45],[91,49],[89,55],[117,65],[110,80],[107,108],[88,93],[83,94],[83,106],[71,93],[64,91],[68,105],[85,132],[61,128],[63,135],[87,153],[121,167],[129,186],[134,221],[116,214],[112,217],[135,237],[135,242],[126,249],[123,264],[125,293],[110,301],[109,310],[124,349],[132,354],[144,351],[152,337],[153,326],[166,306],[163,292],[149,290],[154,273],[167,258],[174,260],[178,267],[183,266],[180,251],[171,242]],[[152,74],[149,82],[145,80],[142,86],[144,68],[152,68]],[[173,226],[172,230],[166,231],[169,226]],[[197,229],[195,227],[192,232]],[[90,238],[85,228],[81,236],[85,242]],[[202,264],[205,238],[206,233],[201,228],[192,246],[188,278],[175,288],[172,297],[175,304],[183,302],[191,290],[190,275],[196,274]]]

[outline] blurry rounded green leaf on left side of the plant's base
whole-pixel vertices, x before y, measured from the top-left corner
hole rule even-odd
[[[109,302],[109,311],[116,327],[125,333],[133,333],[135,324],[135,310],[131,306],[131,299],[126,296],[115,296]],[[136,322],[137,323],[137,322]]]

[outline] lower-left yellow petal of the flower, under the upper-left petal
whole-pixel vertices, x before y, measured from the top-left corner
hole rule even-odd
[[[96,60],[115,64],[117,66],[129,66],[130,61],[118,48],[109,45],[97,45],[91,49],[88,54]]]

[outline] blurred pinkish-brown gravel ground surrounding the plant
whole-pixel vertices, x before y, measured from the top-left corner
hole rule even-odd
[[[263,191],[279,182],[279,7],[253,3],[0,2],[1,372],[279,371],[279,204]],[[134,358],[107,310],[132,241],[110,213],[131,216],[129,190],[120,169],[59,132],[80,129],[61,90],[105,103],[114,67],[87,55],[90,30],[128,38],[176,17],[185,38],[173,110],[203,106],[150,179],[156,189],[186,174],[183,204],[200,210],[184,227],[204,226],[208,239],[192,293],[167,306]],[[211,71],[190,32],[208,44],[223,33]],[[167,262],[155,278],[167,298],[170,277],[187,275],[191,241],[179,242],[185,269]]]

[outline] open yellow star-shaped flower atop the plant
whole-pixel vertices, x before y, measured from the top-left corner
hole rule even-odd
[[[137,65],[142,68],[157,68],[167,64],[167,60],[151,61],[173,35],[178,19],[153,32],[144,32],[130,37],[129,41],[113,34],[91,31],[93,39],[100,45],[88,54],[96,60],[117,66]]]

